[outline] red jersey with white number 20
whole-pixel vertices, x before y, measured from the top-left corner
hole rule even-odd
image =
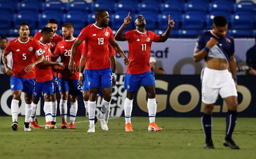
[[[79,71],[76,71],[71,74],[70,70],[68,69],[68,64],[70,62],[70,56],[71,56],[71,47],[73,43],[75,43],[76,38],[73,40],[63,40],[60,41],[57,44],[57,47],[55,48],[54,54],[57,54],[61,58],[61,62],[64,63],[65,69],[60,69],[58,71],[58,77],[65,78],[65,79],[78,79],[79,78]],[[78,47],[76,51],[76,55],[74,58],[75,61],[75,67],[79,67],[80,63],[80,57],[83,51],[84,43],[81,43],[81,45]]]

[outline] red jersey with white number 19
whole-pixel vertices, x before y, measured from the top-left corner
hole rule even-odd
[[[110,27],[99,28],[89,24],[81,30],[79,40],[85,40],[86,64],[85,69],[106,69],[111,67],[109,61],[109,41],[114,40]]]

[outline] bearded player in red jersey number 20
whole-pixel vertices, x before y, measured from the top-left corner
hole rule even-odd
[[[75,43],[76,38],[73,37],[74,26],[70,23],[65,23],[62,25],[62,35],[64,37],[63,41],[60,41],[55,48],[54,55],[55,59],[59,56],[61,58],[61,62],[65,64],[65,69],[60,70],[58,72],[58,87],[60,91],[60,116],[62,117],[62,129],[66,129],[66,114],[67,114],[67,103],[68,96],[70,97],[70,126],[69,129],[75,129],[75,119],[76,113],[78,110],[78,95],[80,90],[78,90],[78,77],[79,70],[75,72],[70,72],[68,70],[68,63],[70,62],[71,56],[71,47],[73,43]],[[76,69],[79,68],[80,56],[83,50],[83,45],[77,50],[75,56],[75,65]]]

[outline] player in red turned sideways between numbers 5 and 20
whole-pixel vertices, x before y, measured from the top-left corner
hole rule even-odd
[[[41,38],[39,44],[43,50],[45,61],[42,64],[35,66],[35,88],[33,93],[32,111],[30,116],[30,125],[35,129],[41,129],[42,127],[35,121],[35,110],[37,104],[42,97],[43,93],[43,111],[45,112],[45,129],[54,129],[55,125],[51,124],[52,118],[52,105],[55,101],[52,101],[52,95],[54,92],[55,82],[52,75],[52,66],[64,67],[62,62],[51,61],[50,42],[53,38],[52,28],[45,27],[41,30]]]

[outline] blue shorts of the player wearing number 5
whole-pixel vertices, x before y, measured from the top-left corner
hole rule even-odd
[[[22,90],[22,92],[32,95],[34,90],[35,79],[24,79],[12,76],[10,79],[11,90]]]

